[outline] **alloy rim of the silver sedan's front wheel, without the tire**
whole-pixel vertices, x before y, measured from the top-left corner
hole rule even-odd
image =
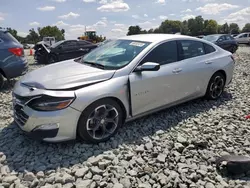
[[[96,107],[89,115],[86,127],[88,134],[96,140],[101,140],[112,135],[119,122],[119,113],[111,105]]]

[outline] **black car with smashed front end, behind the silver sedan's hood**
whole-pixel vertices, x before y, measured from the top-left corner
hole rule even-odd
[[[39,45],[40,47],[35,47],[35,59],[38,63],[45,64],[77,58],[97,47],[85,40],[62,40],[50,47],[43,43]]]

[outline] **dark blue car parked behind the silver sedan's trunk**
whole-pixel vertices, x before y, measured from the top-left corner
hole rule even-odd
[[[207,35],[204,36],[203,39],[210,41],[231,53],[235,53],[238,49],[238,42],[229,34]]]

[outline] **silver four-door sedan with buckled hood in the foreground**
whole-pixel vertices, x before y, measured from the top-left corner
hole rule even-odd
[[[26,74],[14,87],[14,119],[43,141],[99,143],[124,122],[202,96],[218,99],[234,66],[230,52],[195,37],[126,36]]]

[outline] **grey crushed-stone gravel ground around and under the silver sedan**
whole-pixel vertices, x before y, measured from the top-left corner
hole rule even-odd
[[[246,176],[223,177],[214,164],[218,156],[250,152],[249,47],[235,58],[234,80],[220,100],[198,99],[141,118],[99,145],[26,138],[12,123],[6,86],[0,92],[0,188],[250,187]]]

